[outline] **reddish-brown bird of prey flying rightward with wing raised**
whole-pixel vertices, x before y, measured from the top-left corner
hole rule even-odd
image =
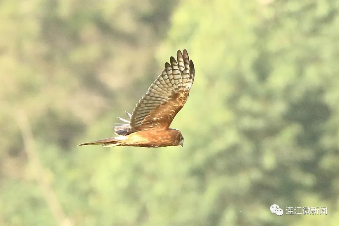
[[[125,112],[129,121],[119,117],[123,123],[115,123],[114,130],[120,136],[78,146],[183,146],[181,132],[169,128],[169,125],[187,101],[194,81],[194,65],[186,49],[182,53],[178,50],[177,60],[169,58],[170,63],[165,63],[165,69],[139,100],[132,114]]]

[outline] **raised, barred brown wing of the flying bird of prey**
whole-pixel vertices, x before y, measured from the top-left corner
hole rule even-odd
[[[138,130],[168,129],[185,104],[194,81],[194,65],[186,49],[165,63],[165,69],[139,100],[129,121],[127,133]]]

